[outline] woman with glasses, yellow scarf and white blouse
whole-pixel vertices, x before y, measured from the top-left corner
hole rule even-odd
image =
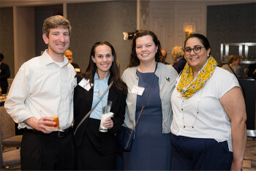
[[[246,110],[236,77],[219,68],[208,39],[191,34],[171,97],[173,170],[241,170]],[[233,151],[233,152],[232,152]]]

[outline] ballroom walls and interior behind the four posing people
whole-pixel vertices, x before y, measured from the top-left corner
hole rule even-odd
[[[122,74],[129,64],[132,43],[124,32],[134,35],[140,29],[157,34],[162,48],[167,50],[169,64],[173,64],[172,48],[184,46],[189,34],[200,33],[208,38],[211,55],[219,64],[228,64],[228,56],[239,55],[245,72],[250,67],[255,69],[255,0],[0,0],[0,53],[4,54],[4,63],[10,66],[9,87],[20,66],[34,56],[40,56],[47,48],[42,39],[42,23],[52,15],[63,15],[70,21],[69,50],[82,71],[88,65],[91,45],[107,40],[115,47]],[[255,77],[249,76],[239,80],[244,88],[247,115],[243,170],[256,170],[256,81]],[[6,96],[1,94],[1,106],[5,99]],[[6,115],[3,111],[0,116],[1,140],[8,136],[21,137],[22,130],[14,121],[3,121],[2,117]],[[12,133],[6,135],[7,132]],[[3,158],[7,157],[4,153],[20,148],[1,144],[1,149],[0,170],[20,170],[19,161],[3,166]]]

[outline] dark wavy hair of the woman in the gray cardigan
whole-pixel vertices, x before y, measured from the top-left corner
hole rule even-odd
[[[160,61],[160,56],[162,56],[162,53],[161,53],[162,47],[160,45],[159,39],[157,39],[157,35],[154,34],[153,31],[140,30],[135,34],[135,37],[132,39],[132,52],[129,57],[128,67],[138,66],[140,64],[140,59],[138,58],[137,53],[136,53],[136,39],[138,39],[138,37],[143,37],[143,36],[147,36],[147,35],[152,37],[154,44],[158,47],[157,53],[154,58],[155,58],[155,61],[157,61],[157,62]]]

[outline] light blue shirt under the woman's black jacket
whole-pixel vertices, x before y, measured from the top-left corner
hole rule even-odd
[[[97,72],[94,75],[94,97],[92,101],[92,106],[94,107],[95,104],[99,101],[102,94],[104,94],[105,90],[108,88],[108,79],[109,76],[106,77],[104,80],[99,80],[99,76]],[[109,92],[109,91],[108,91]],[[102,100],[108,100],[108,92],[103,96]],[[97,107],[92,111],[90,118],[99,119],[102,117],[102,100],[99,102]]]

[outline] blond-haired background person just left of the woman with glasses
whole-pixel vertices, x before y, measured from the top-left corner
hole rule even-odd
[[[185,64],[187,63],[186,59],[184,58],[184,51],[183,47],[175,46],[172,49],[172,56],[174,59],[173,68],[176,69],[178,74],[184,69]]]

